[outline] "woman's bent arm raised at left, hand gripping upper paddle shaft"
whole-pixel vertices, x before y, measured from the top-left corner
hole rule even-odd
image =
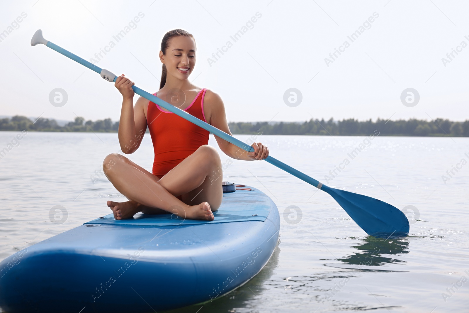
[[[148,100],[140,97],[134,107],[134,83],[125,76],[119,76],[114,85],[122,94],[119,144],[123,153],[134,153],[140,146],[147,128],[144,105]]]

